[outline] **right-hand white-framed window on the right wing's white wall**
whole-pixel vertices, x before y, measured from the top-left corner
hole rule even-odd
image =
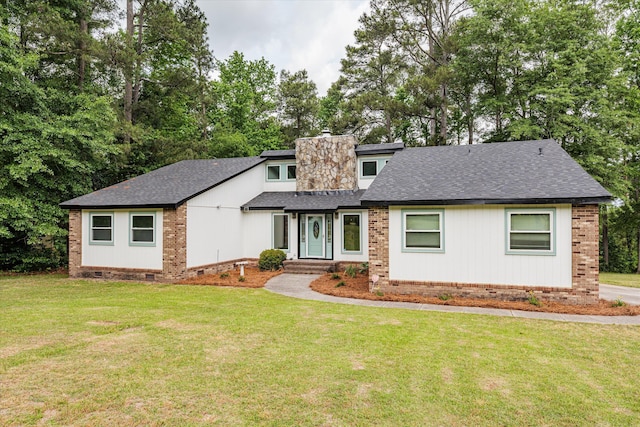
[[[506,252],[555,255],[555,209],[506,209]]]

